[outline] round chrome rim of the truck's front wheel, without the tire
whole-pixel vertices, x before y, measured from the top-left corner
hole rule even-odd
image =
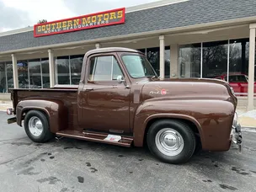
[[[183,137],[171,128],[158,131],[155,141],[157,149],[166,156],[177,156],[184,148]]]

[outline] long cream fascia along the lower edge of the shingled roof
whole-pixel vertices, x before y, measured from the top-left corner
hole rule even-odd
[[[208,29],[211,27],[221,27],[225,26],[227,27],[227,24],[232,25],[241,25],[241,24],[253,24],[256,23],[256,16],[253,17],[247,17],[242,19],[229,19],[229,20],[223,20],[223,21],[217,21],[207,24],[194,24],[189,26],[183,26],[183,27],[177,27],[177,28],[171,28],[171,29],[160,29],[160,30],[153,30],[153,31],[147,31],[142,33],[135,33],[135,34],[129,34],[129,35],[119,35],[119,36],[110,36],[110,37],[104,37],[99,39],[93,39],[93,40],[79,40],[79,41],[73,41],[68,43],[61,43],[61,44],[53,44],[53,45],[43,45],[43,46],[36,46],[36,47],[29,47],[19,50],[12,50],[12,51],[3,51],[0,52],[0,55],[8,55],[13,53],[19,53],[24,51],[41,51],[46,49],[55,49],[55,48],[61,48],[66,46],[72,46],[72,45],[83,45],[83,44],[93,44],[93,43],[99,43],[99,42],[106,42],[109,40],[120,40],[123,38],[130,38],[130,37],[140,37],[140,36],[150,36],[150,35],[166,35],[166,34],[174,34],[183,32],[185,30],[194,30],[194,29]]]

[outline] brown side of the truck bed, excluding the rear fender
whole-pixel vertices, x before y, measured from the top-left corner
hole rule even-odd
[[[26,99],[58,99],[68,109],[69,126],[77,125],[77,88],[78,86],[56,86],[54,88],[12,88],[13,112],[21,100]]]

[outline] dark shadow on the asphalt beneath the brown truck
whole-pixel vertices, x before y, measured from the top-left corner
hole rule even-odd
[[[45,144],[39,144],[45,145]],[[81,141],[77,139],[61,138],[61,140],[51,140],[49,145],[52,147],[60,147],[63,151],[67,152],[70,150],[80,150],[83,152],[97,152],[98,154],[115,154],[116,157],[133,157],[139,161],[148,160],[158,163],[163,163],[156,157],[153,157],[147,146],[144,147],[119,147],[93,141]],[[237,147],[231,147],[228,152],[207,152],[201,151],[195,152],[194,156],[188,163],[184,165],[193,165],[203,162],[211,162],[214,167],[218,168],[219,163],[230,163],[230,157],[228,156],[239,156]],[[165,163],[168,164],[168,163]]]

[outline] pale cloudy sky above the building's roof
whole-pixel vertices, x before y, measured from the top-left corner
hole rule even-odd
[[[0,0],[0,32],[158,0]]]

